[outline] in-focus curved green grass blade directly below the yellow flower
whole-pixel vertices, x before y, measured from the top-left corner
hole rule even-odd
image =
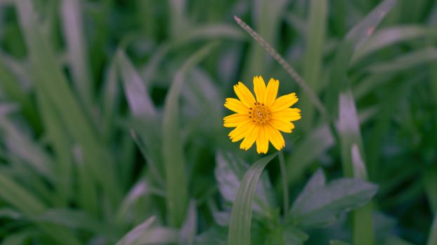
[[[230,214],[228,233],[229,245],[249,245],[250,226],[252,223],[252,202],[255,188],[261,174],[271,160],[278,154],[268,155],[256,161],[244,174],[241,185],[238,188],[237,198]]]

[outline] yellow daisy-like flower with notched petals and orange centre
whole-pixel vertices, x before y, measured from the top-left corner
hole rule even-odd
[[[228,134],[233,142],[243,141],[240,148],[248,150],[256,141],[256,152],[267,153],[268,141],[280,151],[285,146],[284,137],[278,131],[291,133],[292,121],[301,118],[301,110],[289,108],[298,101],[294,92],[276,98],[279,80],[270,78],[268,85],[261,76],[254,76],[254,95],[241,82],[234,85],[238,99],[227,98],[226,108],[235,111],[223,118],[225,127],[235,127]]]

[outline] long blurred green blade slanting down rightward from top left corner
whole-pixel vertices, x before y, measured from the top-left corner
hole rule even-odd
[[[93,125],[74,92],[71,90],[65,73],[58,62],[56,52],[50,45],[48,37],[41,31],[33,1],[15,1],[18,10],[18,20],[27,45],[30,59],[30,69],[34,84],[39,87],[48,101],[60,116],[65,129],[77,142],[77,149],[83,152],[83,162],[86,171],[97,183],[100,183],[105,196],[115,207],[121,199],[121,188],[115,179],[114,161],[105,150],[98,137],[98,131]],[[77,154],[81,155],[81,154]],[[81,161],[79,161],[81,162]]]

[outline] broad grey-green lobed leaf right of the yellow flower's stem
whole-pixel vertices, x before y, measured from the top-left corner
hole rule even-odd
[[[377,186],[360,179],[344,178],[321,186],[323,179],[316,172],[292,205],[292,219],[299,227],[333,223],[340,214],[363,206],[377,193]]]

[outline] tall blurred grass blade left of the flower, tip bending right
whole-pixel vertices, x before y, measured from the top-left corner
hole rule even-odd
[[[171,226],[180,226],[188,207],[188,183],[185,176],[185,160],[181,132],[179,131],[179,95],[185,73],[206,57],[217,43],[210,43],[195,52],[176,72],[164,102],[162,122],[162,156],[164,158],[167,209]]]

